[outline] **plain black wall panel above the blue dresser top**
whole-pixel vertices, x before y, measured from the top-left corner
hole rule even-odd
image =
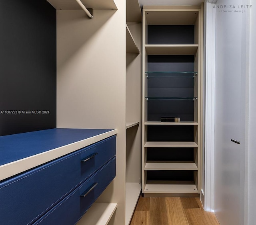
[[[56,127],[56,10],[0,0],[0,136]]]

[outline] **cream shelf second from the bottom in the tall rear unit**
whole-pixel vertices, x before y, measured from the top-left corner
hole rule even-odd
[[[196,163],[147,162],[145,170],[198,170]]]

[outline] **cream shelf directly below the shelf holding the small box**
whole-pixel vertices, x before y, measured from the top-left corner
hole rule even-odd
[[[147,141],[145,147],[198,147],[192,141]]]

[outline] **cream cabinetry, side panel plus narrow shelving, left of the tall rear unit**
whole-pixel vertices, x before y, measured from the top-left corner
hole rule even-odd
[[[81,0],[89,19],[76,1],[56,2],[57,125],[118,130],[116,177],[96,204],[117,203],[109,225],[128,224],[142,183],[142,12],[138,0]]]

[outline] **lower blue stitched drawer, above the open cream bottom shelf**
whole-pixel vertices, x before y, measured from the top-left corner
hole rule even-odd
[[[33,225],[73,225],[89,209],[116,175],[116,157],[76,188]],[[81,196],[82,195],[82,196]],[[86,195],[85,197],[83,195]]]

